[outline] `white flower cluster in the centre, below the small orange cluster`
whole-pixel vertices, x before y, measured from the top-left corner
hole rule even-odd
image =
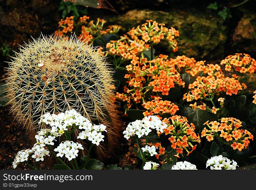
[[[167,128],[167,124],[163,123],[159,117],[150,115],[146,116],[143,120],[136,120],[131,122],[123,132],[124,137],[128,140],[133,135],[138,135],[138,138],[143,135],[148,135],[152,129],[163,132]]]

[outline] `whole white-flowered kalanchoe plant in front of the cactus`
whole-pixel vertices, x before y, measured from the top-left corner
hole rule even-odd
[[[104,135],[102,133],[107,132],[106,126],[103,124],[93,125],[86,117],[83,117],[77,111],[67,110],[65,113],[50,114],[45,113],[40,117],[39,123],[45,123],[51,128],[41,129],[35,135],[36,143],[31,149],[19,151],[13,162],[13,168],[16,168],[21,162],[25,162],[33,169],[38,169],[41,161],[44,161],[45,156],[54,155],[62,164],[57,164],[56,168],[71,169],[86,169],[88,158],[91,148],[96,144],[99,146],[100,142],[104,141]],[[86,139],[91,142],[90,148],[87,151],[87,156],[84,156],[81,160],[81,166],[79,167],[77,157],[79,150],[84,150],[84,147],[79,142],[70,141],[71,135],[78,130],[81,131],[77,139]],[[60,137],[60,138],[57,138]],[[60,139],[63,140],[60,142]],[[81,154],[82,155],[82,154]],[[29,163],[29,158],[35,158],[37,162],[36,166],[32,166]],[[65,161],[64,158],[67,158]],[[98,161],[99,162],[99,161]]]

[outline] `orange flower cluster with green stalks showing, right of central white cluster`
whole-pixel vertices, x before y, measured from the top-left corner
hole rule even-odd
[[[187,155],[189,155],[197,146],[192,143],[201,142],[199,134],[196,135],[194,132],[194,124],[189,124],[186,117],[173,115],[168,119],[165,118],[163,122],[168,125],[163,133],[169,136],[168,140],[170,140],[171,147],[176,150],[176,157],[180,158],[179,154],[182,154],[184,150],[187,152]],[[161,134],[160,132],[158,133],[159,135]]]

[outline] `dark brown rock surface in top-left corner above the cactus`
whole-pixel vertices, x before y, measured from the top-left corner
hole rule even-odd
[[[58,6],[59,1],[50,0],[0,0],[0,46],[8,43],[17,50],[31,36],[53,33],[60,19]]]

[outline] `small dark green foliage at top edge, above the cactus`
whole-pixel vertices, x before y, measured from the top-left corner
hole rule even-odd
[[[58,10],[62,10],[62,19],[65,19],[70,13],[72,13],[71,15],[74,15],[74,19],[77,20],[80,16],[88,13],[86,7],[79,6],[79,4],[72,3],[71,1],[61,1]]]

